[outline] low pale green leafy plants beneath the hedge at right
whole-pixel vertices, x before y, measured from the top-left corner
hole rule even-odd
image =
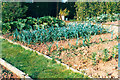
[[[92,21],[92,22],[109,22],[109,21],[117,21],[117,20],[120,20],[120,14],[102,14],[100,16],[97,16],[97,17],[92,17],[92,18],[89,18],[87,17],[87,20],[88,21]]]

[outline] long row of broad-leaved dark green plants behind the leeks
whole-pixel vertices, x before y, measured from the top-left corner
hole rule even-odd
[[[54,17],[45,16],[41,18],[27,17],[26,19],[17,19],[17,21],[3,23],[2,31],[7,33],[14,31],[15,29],[20,30],[32,30],[37,28],[46,29],[49,27],[63,27],[65,22]]]

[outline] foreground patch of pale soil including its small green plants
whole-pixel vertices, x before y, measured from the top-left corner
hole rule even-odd
[[[92,43],[89,47],[71,46],[68,49],[49,52],[49,54],[46,53],[46,55],[49,55],[51,58],[57,59],[74,69],[83,71],[92,77],[117,78],[117,45],[117,40],[107,40],[99,43]],[[108,66],[109,69],[107,69]]]

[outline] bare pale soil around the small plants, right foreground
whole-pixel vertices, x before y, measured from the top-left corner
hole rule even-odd
[[[88,47],[80,47],[75,50],[66,50],[62,51],[61,53],[58,52],[56,54],[60,54],[60,56],[56,56],[56,58],[60,58],[62,62],[68,64],[69,66],[77,69],[77,70],[84,70],[87,75],[92,77],[118,77],[118,53],[116,53],[116,59],[112,58],[112,48],[113,46],[118,45],[117,41],[110,41],[106,43],[94,44]],[[102,59],[103,57],[103,50],[109,50],[109,61],[104,62]],[[91,57],[93,52],[96,52],[96,65],[93,65],[93,60],[88,57]],[[82,54],[81,54],[82,53]]]

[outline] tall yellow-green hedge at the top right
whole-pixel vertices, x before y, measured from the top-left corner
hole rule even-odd
[[[75,3],[76,18],[83,21],[87,17],[101,14],[120,13],[120,2],[78,2]]]

